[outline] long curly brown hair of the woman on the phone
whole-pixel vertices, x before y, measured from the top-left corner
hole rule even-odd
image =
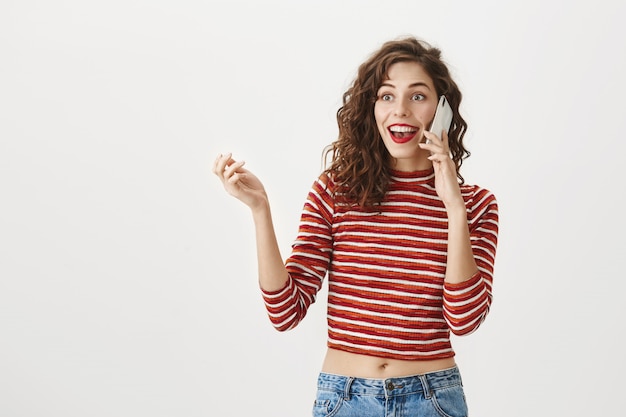
[[[470,153],[463,146],[467,123],[459,114],[461,91],[441,59],[441,51],[414,37],[388,41],[359,66],[352,85],[343,94],[337,111],[339,136],[324,151],[331,156],[325,173],[337,184],[337,197],[345,203],[371,207],[385,197],[391,179],[393,158],[387,151],[376,126],[374,105],[381,84],[391,65],[416,62],[432,78],[437,95],[445,95],[453,117],[448,139],[452,160],[460,183],[460,168]]]

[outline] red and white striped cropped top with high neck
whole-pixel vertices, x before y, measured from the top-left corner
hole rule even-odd
[[[339,204],[322,175],[303,208],[286,261],[289,281],[263,291],[276,329],[295,327],[328,273],[328,346],[392,359],[454,356],[450,331],[473,332],[492,299],[498,206],[489,191],[463,185],[478,272],[444,283],[447,214],[432,170],[393,172],[383,203],[372,210]]]

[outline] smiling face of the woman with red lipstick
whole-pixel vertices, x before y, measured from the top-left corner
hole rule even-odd
[[[416,62],[398,62],[389,67],[374,105],[374,117],[383,142],[395,159],[394,169],[429,169],[430,153],[420,149],[435,116],[437,92],[428,73]]]

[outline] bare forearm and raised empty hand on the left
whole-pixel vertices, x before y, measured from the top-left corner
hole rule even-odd
[[[252,211],[259,285],[264,291],[278,291],[287,285],[289,276],[276,240],[269,199],[261,181],[245,169],[244,164],[243,161],[235,161],[231,154],[219,155],[213,165],[213,173],[230,195]]]

